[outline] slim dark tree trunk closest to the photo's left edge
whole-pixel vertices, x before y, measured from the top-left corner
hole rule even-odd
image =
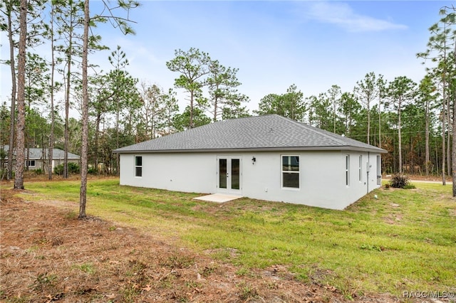
[[[11,61],[11,113],[10,113],[10,125],[9,125],[9,151],[8,151],[8,174],[6,175],[7,180],[13,179],[13,149],[14,149],[14,122],[16,121],[16,68],[14,66],[14,41],[13,31],[11,22],[11,11],[13,11],[12,1],[8,1],[7,4],[10,6],[6,9],[8,11],[8,38],[9,38],[9,60]],[[24,101],[25,102],[25,101]]]

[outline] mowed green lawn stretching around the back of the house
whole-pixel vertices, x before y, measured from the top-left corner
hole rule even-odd
[[[79,182],[28,183],[24,198],[69,201]],[[451,186],[378,189],[345,211],[242,198],[193,201],[197,193],[89,181],[87,213],[178,238],[239,272],[284,265],[304,282],[347,297],[369,292],[449,291],[456,285],[456,201]],[[376,194],[377,199],[373,197]]]

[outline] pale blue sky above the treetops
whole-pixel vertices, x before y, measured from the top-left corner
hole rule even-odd
[[[120,45],[128,71],[165,90],[177,73],[165,63],[175,49],[199,48],[222,65],[239,68],[239,91],[257,109],[261,97],[284,93],[296,84],[305,97],[331,85],[352,91],[366,73],[386,80],[405,75],[419,82],[422,60],[442,6],[455,1],[141,1],[131,11],[135,36],[102,26],[105,45]],[[100,1],[91,2],[92,11]],[[1,57],[8,56],[1,36]],[[110,69],[109,51],[89,58]],[[43,54],[50,57],[48,54]],[[8,100],[9,70],[1,67],[0,100]],[[180,107],[185,107],[182,93]]]

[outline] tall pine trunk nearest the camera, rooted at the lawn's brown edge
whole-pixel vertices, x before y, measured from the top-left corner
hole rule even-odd
[[[87,160],[88,160],[88,79],[87,79],[87,57],[88,57],[88,26],[90,22],[89,0],[84,0],[84,32],[83,32],[83,134],[81,152],[81,192],[79,196],[79,218],[86,218],[87,201]]]

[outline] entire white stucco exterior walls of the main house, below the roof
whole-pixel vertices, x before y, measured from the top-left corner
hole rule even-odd
[[[347,154],[350,155],[348,186]],[[361,151],[120,154],[120,184],[217,193],[217,156],[235,155],[241,159],[241,193],[249,198],[343,209],[380,187],[376,167],[379,154]],[[281,155],[299,156],[300,188],[282,188]],[[361,181],[360,155],[363,156]],[[135,177],[135,156],[142,156],[142,177]],[[256,158],[254,164],[252,157]]]

